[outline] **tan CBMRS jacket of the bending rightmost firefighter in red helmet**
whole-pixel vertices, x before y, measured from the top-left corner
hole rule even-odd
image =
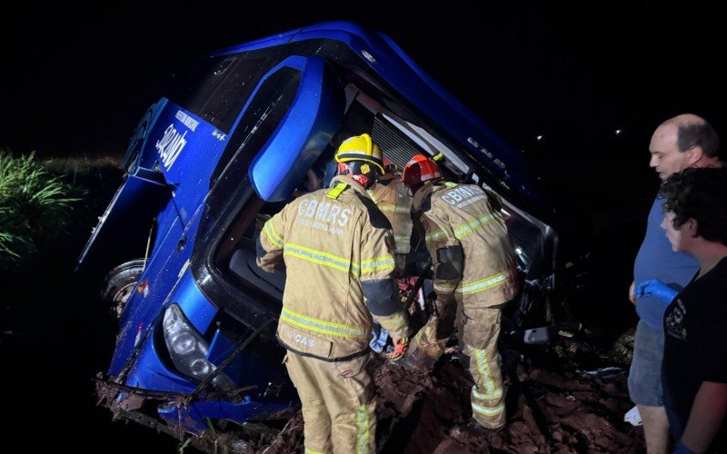
[[[413,197],[413,219],[432,257],[437,299],[486,308],[518,291],[516,261],[500,200],[473,184],[434,182]]]

